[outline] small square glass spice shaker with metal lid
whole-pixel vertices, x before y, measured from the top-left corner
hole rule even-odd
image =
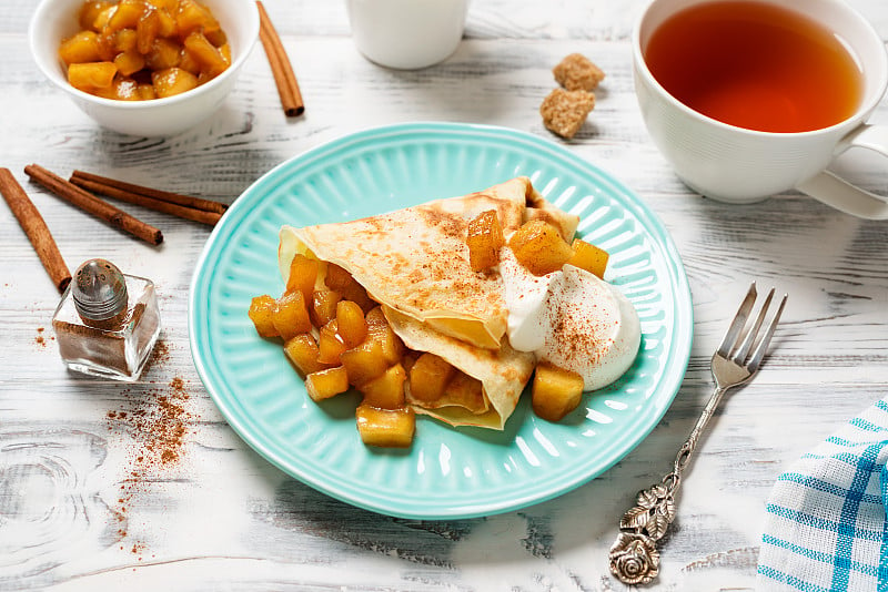
[[[154,284],[105,259],[90,259],[64,290],[52,328],[68,368],[137,380],[160,334]]]

